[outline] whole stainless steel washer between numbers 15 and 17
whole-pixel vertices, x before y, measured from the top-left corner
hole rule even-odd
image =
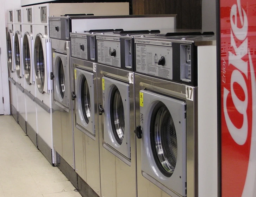
[[[96,34],[102,196],[137,196],[133,34],[150,32]]]

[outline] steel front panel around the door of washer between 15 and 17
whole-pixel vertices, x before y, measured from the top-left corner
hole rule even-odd
[[[102,104],[102,77],[107,76],[129,83],[129,71],[118,68],[96,65],[98,79],[98,104]],[[105,197],[136,197],[136,147],[135,147],[135,114],[134,114],[134,86],[130,83],[130,142],[131,142],[131,166],[113,155],[103,147],[104,120],[99,116],[100,136],[100,173],[101,195]],[[147,193],[147,192],[145,192]],[[145,193],[143,194],[145,196]],[[143,197],[144,197],[143,196]]]

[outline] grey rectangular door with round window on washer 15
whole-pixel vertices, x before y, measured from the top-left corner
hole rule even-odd
[[[93,73],[75,68],[75,87],[76,123],[95,136]]]

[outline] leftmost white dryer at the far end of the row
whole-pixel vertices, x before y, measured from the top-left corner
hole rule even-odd
[[[18,103],[17,103],[17,88],[16,84],[16,73],[14,65],[14,29],[13,29],[13,9],[6,11],[7,18],[7,63],[9,70],[9,81],[10,81],[10,91],[11,91],[11,114],[14,119],[18,122]]]

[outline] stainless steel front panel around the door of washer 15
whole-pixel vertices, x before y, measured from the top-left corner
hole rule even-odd
[[[74,69],[80,68],[93,73],[93,62],[79,60],[71,57],[71,82],[72,91],[75,92]],[[93,83],[96,83],[97,76],[93,73]],[[73,122],[74,122],[74,151],[76,173],[99,195],[101,195],[100,180],[100,155],[99,155],[99,129],[98,129],[98,103],[97,86],[94,86],[94,121],[95,139],[86,135],[86,130],[77,129],[75,101],[73,101]]]

